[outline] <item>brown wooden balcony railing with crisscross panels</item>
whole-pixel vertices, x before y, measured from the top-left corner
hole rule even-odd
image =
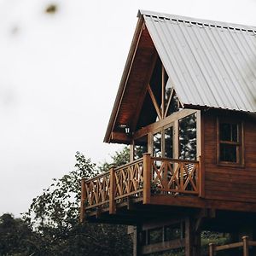
[[[116,204],[128,197],[150,203],[154,195],[199,195],[200,162],[152,157],[112,168],[97,177],[82,180],[81,218],[96,207],[108,207],[114,213]],[[177,199],[178,200],[178,199]]]

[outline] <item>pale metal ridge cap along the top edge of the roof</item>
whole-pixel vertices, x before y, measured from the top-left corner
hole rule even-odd
[[[170,15],[165,13],[158,13],[158,12],[139,9],[138,16],[140,15],[143,15],[146,17],[147,16],[153,17],[160,20],[166,19],[166,20],[173,20],[173,21],[179,21],[179,22],[185,22],[185,23],[198,24],[202,26],[216,26],[216,27],[230,28],[230,29],[236,29],[236,30],[238,29],[241,31],[256,33],[256,26],[241,25],[241,24],[218,21],[218,20],[204,20],[204,19],[193,18],[188,16]]]

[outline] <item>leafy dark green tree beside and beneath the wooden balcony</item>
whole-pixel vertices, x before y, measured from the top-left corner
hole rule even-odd
[[[125,164],[128,150],[116,153],[113,163],[98,167],[77,152],[75,169],[54,179],[42,195],[33,199],[24,219],[43,238],[42,255],[131,255],[131,237],[124,226],[79,223],[81,178]]]

